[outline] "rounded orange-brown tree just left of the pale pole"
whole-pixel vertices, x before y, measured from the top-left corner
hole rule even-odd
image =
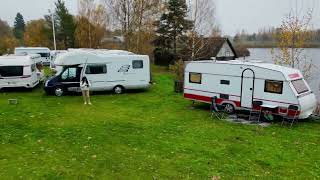
[[[26,46],[50,46],[50,40],[48,33],[50,28],[48,27],[44,19],[32,20],[26,25],[26,32],[24,34],[24,42]]]

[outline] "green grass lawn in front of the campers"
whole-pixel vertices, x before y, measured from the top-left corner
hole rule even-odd
[[[92,107],[41,88],[0,93],[1,179],[320,178],[320,123],[211,119],[207,105],[173,92],[164,69],[154,81],[145,92],[93,95]]]

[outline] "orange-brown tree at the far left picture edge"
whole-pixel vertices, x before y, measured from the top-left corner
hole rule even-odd
[[[8,23],[0,19],[0,55],[12,53],[17,44]]]

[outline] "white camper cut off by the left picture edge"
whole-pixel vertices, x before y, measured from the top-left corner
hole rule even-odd
[[[40,55],[0,56],[0,89],[12,87],[33,88],[39,84],[41,72],[36,62]]]

